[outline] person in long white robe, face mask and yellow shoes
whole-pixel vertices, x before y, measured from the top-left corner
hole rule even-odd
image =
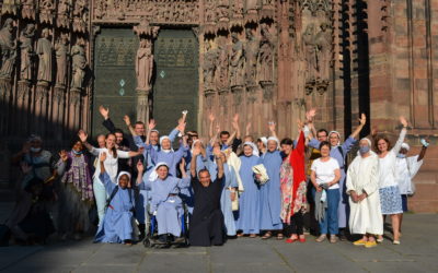
[[[349,195],[349,230],[362,238],[355,246],[377,246],[376,235],[383,234],[379,198],[379,158],[371,149],[369,139],[361,139],[359,152],[347,171],[347,194]]]

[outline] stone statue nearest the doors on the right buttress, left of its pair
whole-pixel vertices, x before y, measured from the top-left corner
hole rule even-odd
[[[318,70],[316,45],[314,38],[314,25],[311,23],[306,27],[306,31],[302,34],[304,58],[307,61],[307,81],[315,81]]]

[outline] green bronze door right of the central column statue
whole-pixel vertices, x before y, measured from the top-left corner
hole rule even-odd
[[[153,110],[157,129],[168,134],[183,110],[186,130],[197,129],[198,41],[192,31],[160,29],[154,43]]]

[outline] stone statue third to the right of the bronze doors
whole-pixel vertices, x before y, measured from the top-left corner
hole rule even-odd
[[[237,33],[231,34],[232,48],[230,56],[230,86],[241,86],[244,84],[243,73],[244,73],[244,52],[243,43],[239,39]]]

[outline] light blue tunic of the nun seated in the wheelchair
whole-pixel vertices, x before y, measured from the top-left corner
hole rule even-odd
[[[140,189],[149,190],[151,197],[150,213],[157,214],[158,234],[181,236],[181,216],[184,214],[183,202],[178,197],[180,190],[187,188],[191,178],[178,179],[168,176],[164,180],[143,180]]]

